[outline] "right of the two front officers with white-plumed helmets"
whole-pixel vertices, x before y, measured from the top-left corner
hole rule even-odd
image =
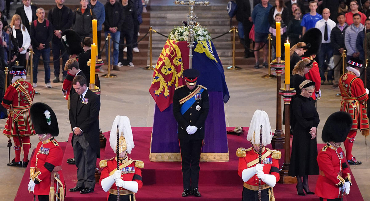
[[[262,162],[259,163],[259,134],[262,125]],[[248,130],[247,140],[252,147],[239,148],[236,156],[239,158],[238,174],[244,181],[243,201],[258,200],[258,179],[261,179],[261,200],[269,201],[274,197],[273,187],[279,181],[279,150],[265,148],[271,143],[272,130],[269,117],[265,111],[256,110]]]

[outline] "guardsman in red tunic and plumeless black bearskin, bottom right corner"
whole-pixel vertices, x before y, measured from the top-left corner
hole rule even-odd
[[[343,111],[334,112],[325,122],[322,140],[327,145],[317,155],[320,175],[315,189],[321,201],[339,201],[349,194],[351,175],[340,143],[346,140],[351,126],[351,115]]]

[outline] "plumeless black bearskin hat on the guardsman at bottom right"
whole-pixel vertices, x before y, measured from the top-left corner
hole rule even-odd
[[[349,113],[334,112],[326,119],[321,139],[324,142],[344,142],[351,127],[352,117]]]

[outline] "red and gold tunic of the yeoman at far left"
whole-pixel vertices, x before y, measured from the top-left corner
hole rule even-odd
[[[14,119],[16,119],[19,128],[19,135],[30,136],[34,135],[35,131],[32,127],[30,107],[35,95],[35,90],[32,84],[26,82],[23,78],[16,80],[10,84],[5,91],[3,102],[1,103],[4,108],[10,109],[13,105],[13,114],[8,117],[3,134],[6,136],[18,136]]]

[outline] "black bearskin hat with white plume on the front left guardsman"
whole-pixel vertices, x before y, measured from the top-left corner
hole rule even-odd
[[[58,136],[59,128],[57,116],[49,105],[45,103],[34,103],[30,108],[31,121],[36,134],[50,133]]]

